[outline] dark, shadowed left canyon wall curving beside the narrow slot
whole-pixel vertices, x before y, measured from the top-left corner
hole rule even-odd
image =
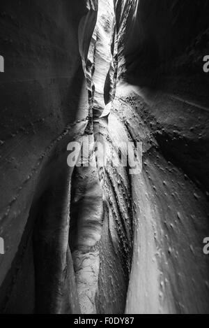
[[[74,0],[0,6],[1,312],[73,313],[79,304],[68,250],[66,149],[88,122],[78,31],[88,49],[97,6]],[[91,24],[82,33],[86,14]]]

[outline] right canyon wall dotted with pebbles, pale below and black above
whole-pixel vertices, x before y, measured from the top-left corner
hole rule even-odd
[[[144,148],[126,313],[208,313],[208,1],[115,3],[111,113]]]

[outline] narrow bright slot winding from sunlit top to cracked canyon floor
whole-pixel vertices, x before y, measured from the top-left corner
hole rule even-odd
[[[114,29],[112,1],[99,1],[98,18],[88,55],[83,56],[89,94],[89,122],[84,136],[93,149],[100,135],[100,116],[104,111],[104,85],[111,64]],[[80,46],[81,49],[81,46]],[[77,167],[72,178],[70,209],[70,249],[74,262],[79,304],[82,313],[96,313],[95,294],[100,269],[100,239],[103,222],[102,188],[95,154],[94,167]]]

